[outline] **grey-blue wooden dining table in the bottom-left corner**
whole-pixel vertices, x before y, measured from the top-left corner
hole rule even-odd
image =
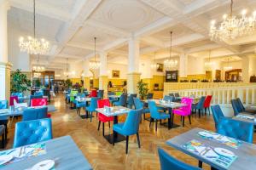
[[[89,161],[84,157],[84,154],[77,144],[74,143],[70,136],[63,136],[56,139],[50,139],[37,144],[45,144],[45,153],[38,156],[26,156],[20,161],[9,162],[0,167],[1,170],[19,169],[32,170],[32,167],[40,161],[53,160],[55,161],[54,169],[61,170],[90,170],[92,169]],[[20,148],[3,150],[0,155],[14,154],[13,150],[26,150],[31,144]],[[15,157],[15,156],[13,156]],[[14,158],[13,158],[14,159]],[[12,161],[12,160],[11,160]]]

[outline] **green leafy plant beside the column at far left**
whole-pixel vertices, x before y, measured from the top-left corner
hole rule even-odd
[[[27,79],[26,74],[21,73],[19,69],[11,73],[10,78],[11,93],[24,92],[31,87],[31,81]]]

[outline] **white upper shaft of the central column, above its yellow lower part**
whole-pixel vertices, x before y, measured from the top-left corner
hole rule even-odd
[[[131,37],[129,40],[128,73],[139,71],[140,44],[137,37]]]

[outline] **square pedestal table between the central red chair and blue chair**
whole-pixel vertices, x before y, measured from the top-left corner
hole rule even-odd
[[[113,124],[118,123],[118,116],[127,114],[129,111],[131,111],[131,109],[123,106],[113,106],[110,108],[112,108],[112,111],[110,112],[106,111],[104,108],[97,108],[96,111],[98,113],[101,113],[104,116],[113,116]],[[113,143],[113,139],[114,139],[114,143],[125,140],[125,136],[119,133],[114,133],[114,135],[113,134],[104,135],[104,138],[107,139],[110,144]]]

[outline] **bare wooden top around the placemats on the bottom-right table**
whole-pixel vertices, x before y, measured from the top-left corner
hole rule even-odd
[[[182,133],[172,139],[169,139],[166,141],[166,144],[172,146],[173,148],[177,150],[181,150],[183,153],[195,157],[199,161],[205,162],[208,165],[210,165],[213,168],[217,168],[219,170],[225,169],[224,167],[219,166],[218,164],[207,160],[206,158],[196,155],[193,152],[190,152],[189,150],[186,150],[183,148],[183,144],[188,143],[189,141],[195,139],[203,144],[207,144],[211,147],[220,147],[227,150],[232,151],[236,156],[236,160],[233,161],[233,163],[230,165],[228,169],[232,170],[241,170],[241,169],[255,169],[256,165],[256,144],[250,144],[247,142],[241,141],[241,145],[235,149],[232,148],[226,144],[219,143],[217,141],[211,140],[211,139],[204,139],[201,138],[198,133],[201,131],[205,131],[201,128],[193,128],[192,130]]]

